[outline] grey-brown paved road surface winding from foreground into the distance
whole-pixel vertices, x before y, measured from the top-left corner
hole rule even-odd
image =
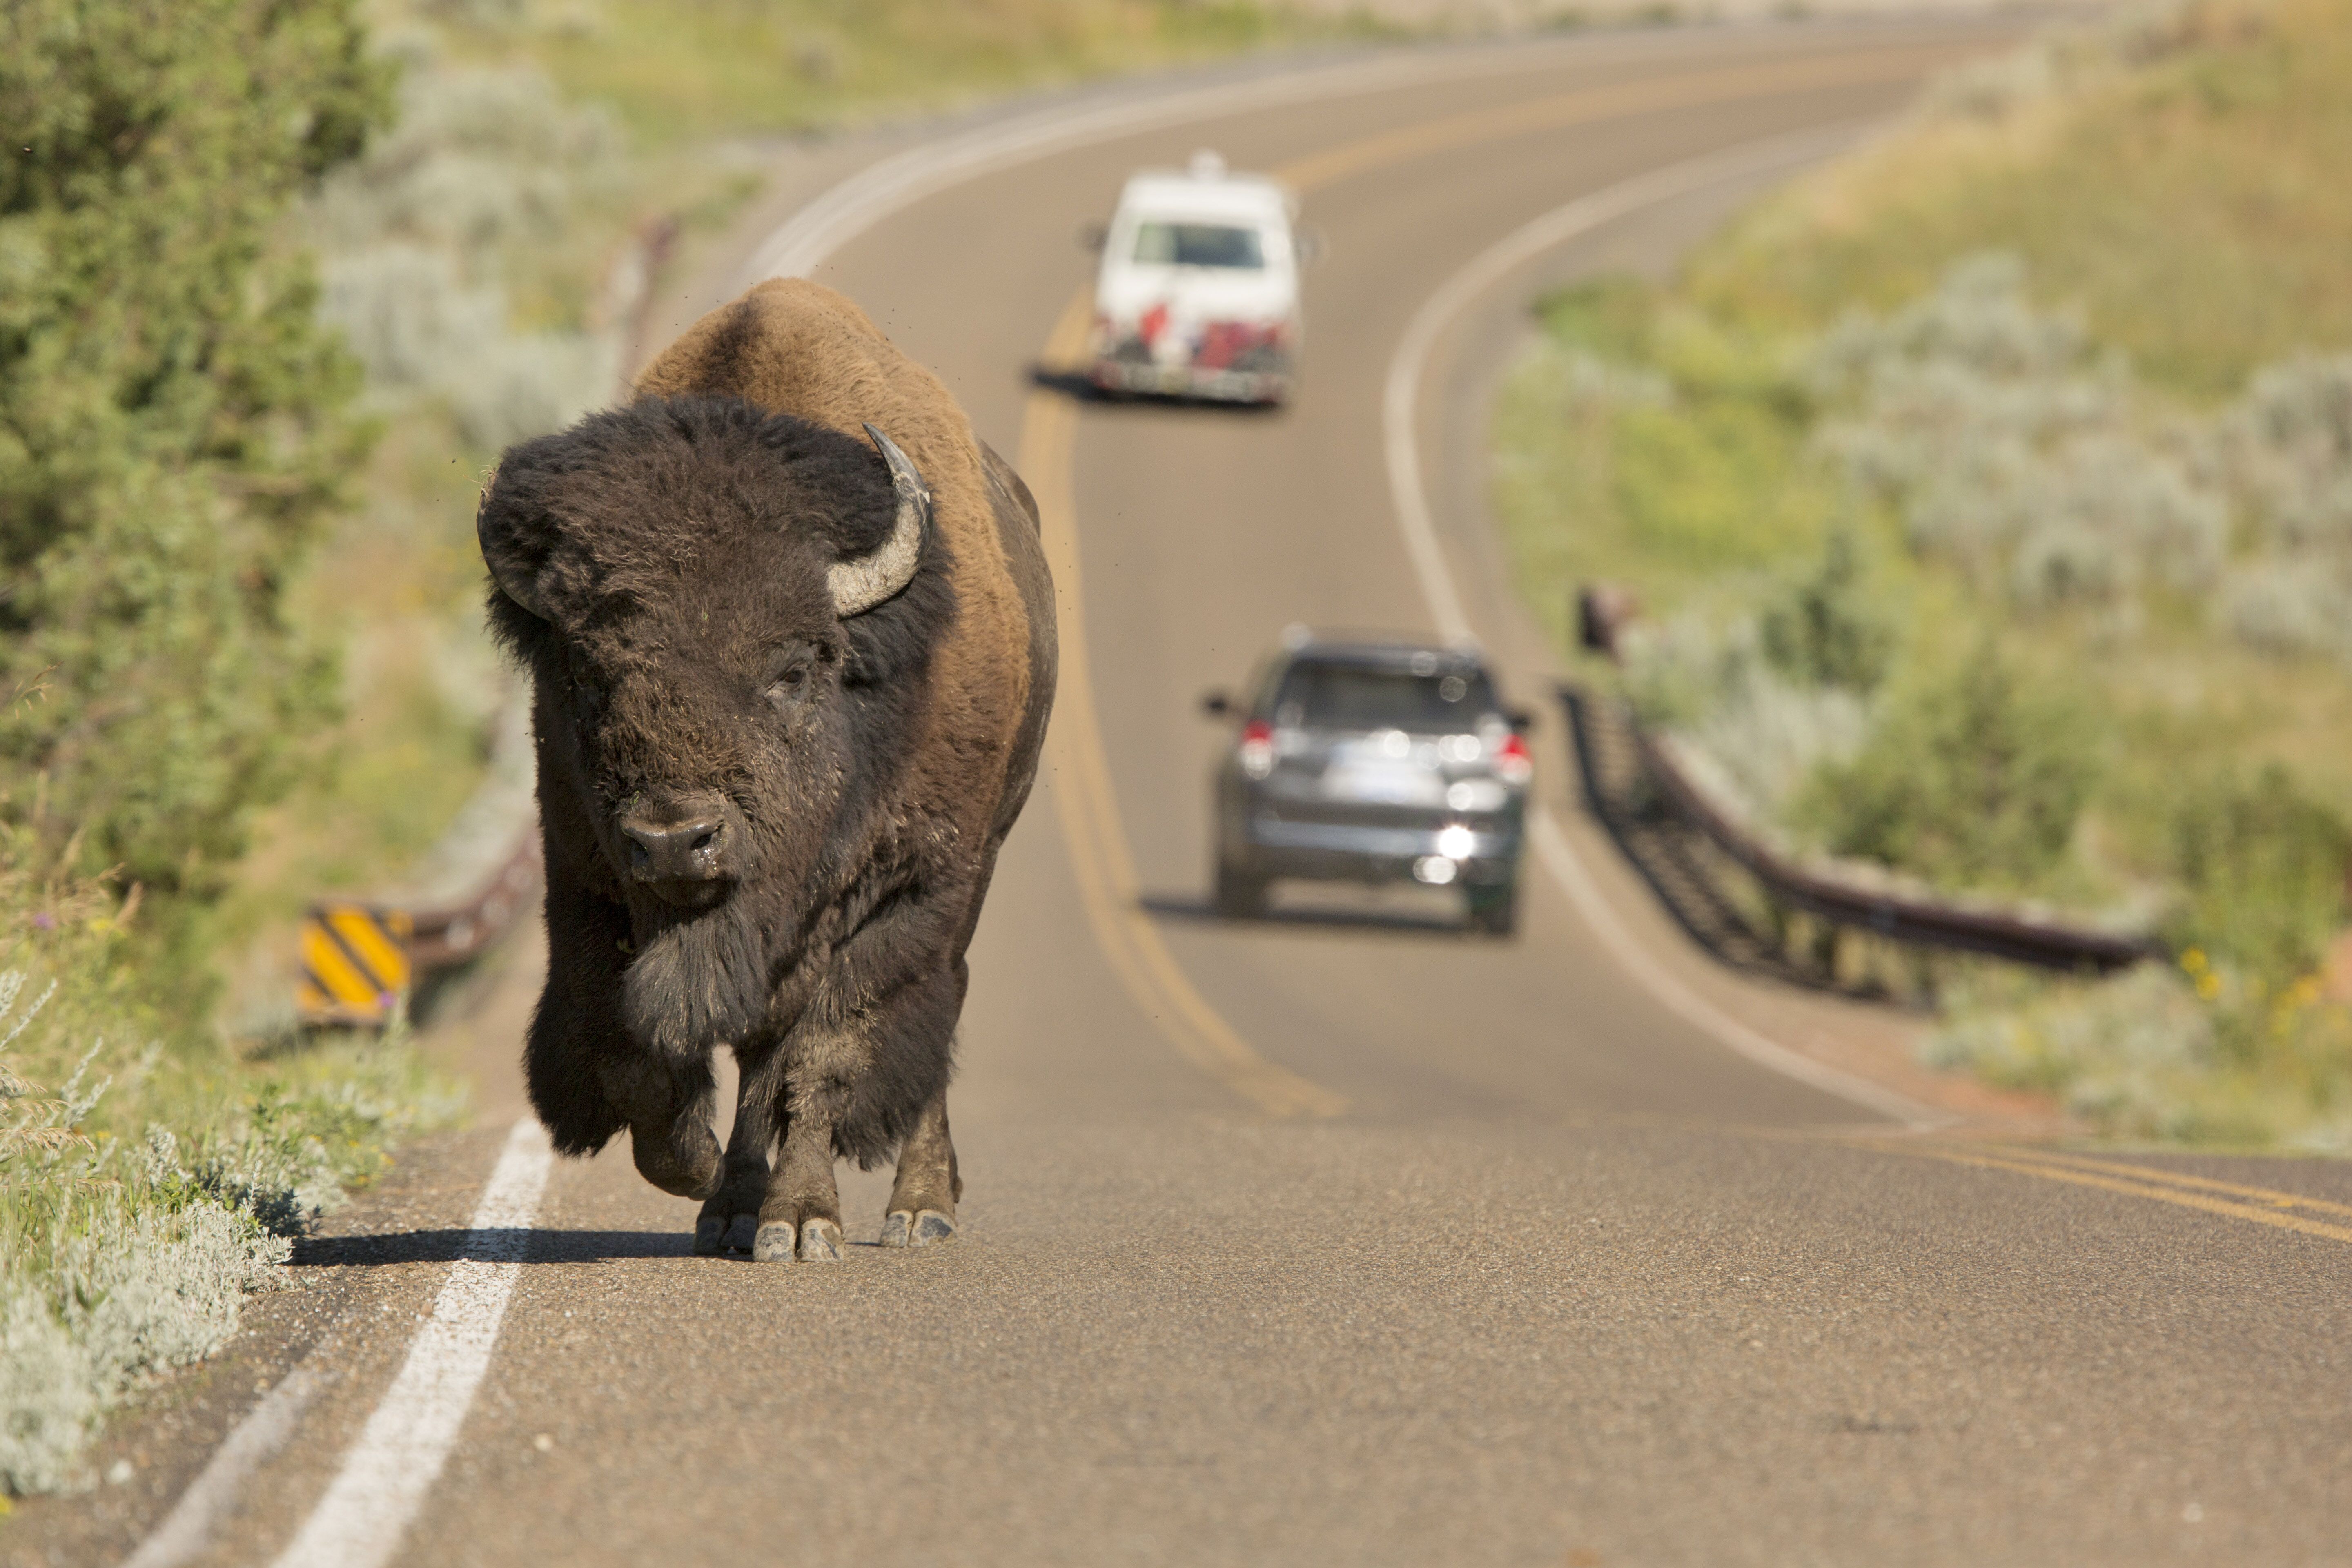
[[[421,1509],[334,1561],[2352,1561],[2352,1173],[2060,1157],[1990,1143],[1917,1070],[1872,1098],[1743,1056],[1733,1034],[1835,1063],[1886,1023],[1684,950],[1578,811],[1552,717],[1557,844],[1515,940],[1406,896],[1204,914],[1200,693],[1291,621],[1437,623],[1383,435],[1423,303],[1545,212],[1719,169],[1505,266],[1409,388],[1442,571],[1536,705],[1552,656],[1479,522],[1482,407],[1526,299],[1665,263],[1785,174],[1738,148],[1825,155],[2004,26],[1261,78],[840,242],[816,277],[1021,454],[1082,644],[971,954],[964,1232],[884,1253],[887,1173],[849,1175],[844,1265],[694,1258],[694,1206],[626,1150],[557,1164],[520,1265],[463,1265],[506,1267],[510,1298]],[[1296,404],[1068,397],[1073,235],[1197,146],[1289,174],[1327,240]],[[205,1528],[141,1561],[280,1561],[315,1523],[452,1260],[485,1255],[468,1225],[522,1112],[536,961],[506,954],[468,1023],[480,1128],[308,1244],[306,1288],[106,1439],[129,1479],[21,1509],[7,1561],[125,1561],[273,1387],[306,1392],[282,1441],[228,1483],[214,1465]],[[1926,1103],[1964,1114],[1886,1114]]]

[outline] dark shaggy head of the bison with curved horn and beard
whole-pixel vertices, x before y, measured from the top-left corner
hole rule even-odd
[[[656,1048],[757,1027],[910,741],[953,590],[922,477],[866,433],[644,400],[513,447],[482,494],[550,849],[628,907]]]

